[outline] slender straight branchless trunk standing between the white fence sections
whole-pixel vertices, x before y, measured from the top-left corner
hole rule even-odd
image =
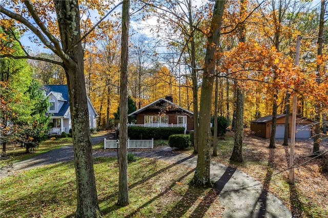
[[[126,0],[122,5],[122,39],[121,39],[121,73],[119,95],[119,178],[118,201],[120,206],[129,204],[128,190],[128,60],[129,60],[129,23],[130,1]]]

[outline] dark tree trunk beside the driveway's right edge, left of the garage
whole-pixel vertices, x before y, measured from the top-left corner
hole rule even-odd
[[[240,1],[240,19],[246,15],[247,1]],[[239,42],[245,42],[245,24],[240,24],[239,27]],[[244,68],[244,67],[243,67]],[[242,69],[243,70],[243,69]],[[235,125],[235,139],[234,149],[232,151],[230,160],[233,162],[242,162],[242,140],[244,136],[244,91],[237,85],[237,99],[236,99],[236,125]]]

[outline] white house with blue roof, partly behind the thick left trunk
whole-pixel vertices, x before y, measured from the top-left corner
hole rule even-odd
[[[43,90],[45,91],[46,97],[49,96],[50,99],[48,113],[51,115],[50,122],[53,123],[53,128],[50,130],[50,133],[69,133],[69,130],[72,128],[72,123],[67,85],[44,85]],[[88,97],[87,100],[90,128],[96,128],[96,118],[98,115]]]

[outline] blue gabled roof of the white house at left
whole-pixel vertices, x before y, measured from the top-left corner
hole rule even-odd
[[[61,106],[58,113],[53,113],[52,116],[64,117],[69,109],[68,103],[68,89],[67,85],[44,85],[42,88],[46,92],[46,96],[53,94],[57,100],[64,101],[63,106]]]

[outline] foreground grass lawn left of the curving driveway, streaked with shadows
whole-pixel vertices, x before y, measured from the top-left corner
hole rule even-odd
[[[130,205],[118,207],[116,158],[94,159],[98,201],[104,217],[220,217],[213,189],[189,189],[193,169],[148,158],[129,164]],[[73,217],[73,162],[17,173],[1,181],[0,217]]]

